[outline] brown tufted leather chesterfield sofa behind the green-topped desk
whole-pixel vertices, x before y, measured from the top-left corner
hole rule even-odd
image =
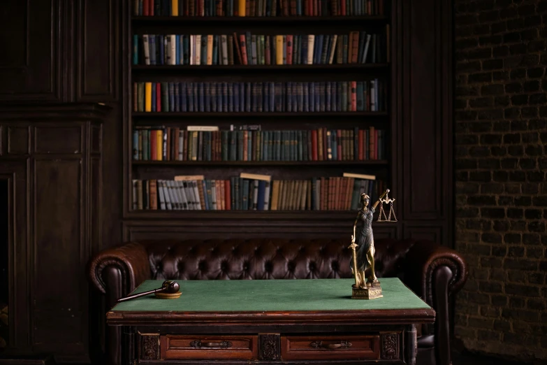
[[[100,252],[89,264],[89,280],[110,309],[143,280],[240,280],[351,278],[347,241],[188,240],[131,242]],[[451,297],[465,283],[457,252],[428,241],[378,239],[376,271],[399,277],[437,313],[435,325],[418,329],[417,364],[450,364]],[[119,364],[120,332],[105,329],[107,361]]]

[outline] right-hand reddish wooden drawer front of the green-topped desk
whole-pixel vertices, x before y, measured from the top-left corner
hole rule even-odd
[[[379,359],[380,337],[282,336],[281,357],[283,360]]]

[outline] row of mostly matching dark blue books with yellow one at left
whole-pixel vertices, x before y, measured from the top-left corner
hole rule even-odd
[[[133,83],[135,112],[351,112],[386,108],[379,79],[258,83]]]

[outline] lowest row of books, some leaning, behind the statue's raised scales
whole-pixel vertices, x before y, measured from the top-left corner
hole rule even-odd
[[[241,173],[224,180],[175,176],[175,180],[133,180],[133,210],[356,210],[360,194],[372,201],[384,184],[375,176],[272,180]]]

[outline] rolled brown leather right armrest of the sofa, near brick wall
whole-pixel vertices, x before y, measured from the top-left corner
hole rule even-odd
[[[448,296],[457,293],[467,280],[467,265],[462,256],[455,250],[430,241],[416,241],[407,252],[404,266],[405,282],[430,306],[435,305],[433,296],[438,269],[451,271],[446,285]]]

